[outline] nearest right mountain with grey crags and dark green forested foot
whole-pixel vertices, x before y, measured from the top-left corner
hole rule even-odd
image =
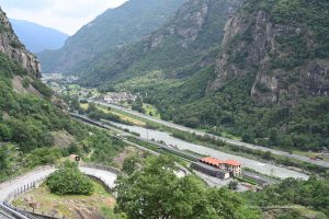
[[[328,147],[328,9],[326,1],[246,1],[227,21],[215,61],[175,89],[152,91],[150,102],[177,123],[245,141]]]

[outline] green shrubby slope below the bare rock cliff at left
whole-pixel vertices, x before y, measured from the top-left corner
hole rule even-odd
[[[15,92],[14,77],[44,95]],[[49,101],[50,95],[53,92],[38,79],[0,54],[0,182],[39,165],[56,164],[71,153],[87,161],[111,163],[123,150],[123,142],[105,131],[71,119],[63,112],[64,105]],[[65,132],[68,146],[55,147],[58,132]]]

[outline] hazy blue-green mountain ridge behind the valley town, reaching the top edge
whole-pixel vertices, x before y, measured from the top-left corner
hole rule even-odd
[[[69,37],[59,50],[37,56],[45,72],[75,73],[86,68],[100,54],[113,54],[166,23],[185,0],[131,0],[109,9]]]

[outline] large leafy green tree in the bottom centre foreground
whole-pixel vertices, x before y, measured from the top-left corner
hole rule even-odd
[[[259,218],[245,201],[226,188],[209,189],[193,175],[178,177],[167,157],[150,158],[145,166],[117,181],[117,211],[128,218]]]

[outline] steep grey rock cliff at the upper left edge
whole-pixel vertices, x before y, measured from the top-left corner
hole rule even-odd
[[[0,51],[19,61],[27,72],[36,78],[41,77],[41,66],[37,58],[29,53],[14,34],[12,26],[0,9]]]

